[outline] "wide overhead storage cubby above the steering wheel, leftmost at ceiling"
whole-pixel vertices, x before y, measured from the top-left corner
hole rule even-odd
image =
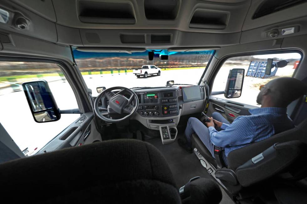
[[[135,17],[129,3],[79,2],[81,22],[102,24],[134,24]]]

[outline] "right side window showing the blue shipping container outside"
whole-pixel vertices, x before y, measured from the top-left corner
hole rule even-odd
[[[271,70],[271,75],[268,76],[264,74],[265,66],[263,66],[268,58],[273,58],[273,64],[281,60],[286,60],[288,64],[286,67],[274,67]],[[227,99],[224,94],[216,95],[215,97],[260,107],[256,103],[260,85],[264,85],[278,77],[292,77],[300,59],[301,55],[296,52],[229,58],[216,74],[212,92],[225,90],[229,70],[241,68],[245,70],[241,97]]]

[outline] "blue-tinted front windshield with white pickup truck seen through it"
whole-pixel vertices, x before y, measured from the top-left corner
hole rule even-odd
[[[164,87],[170,80],[197,85],[214,51],[159,50],[152,61],[148,60],[148,52],[73,53],[87,87],[97,96],[97,87]],[[168,60],[161,60],[161,55],[169,55]]]

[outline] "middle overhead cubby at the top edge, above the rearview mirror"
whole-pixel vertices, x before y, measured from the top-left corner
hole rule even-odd
[[[152,20],[175,19],[179,6],[179,0],[144,0],[145,16]]]

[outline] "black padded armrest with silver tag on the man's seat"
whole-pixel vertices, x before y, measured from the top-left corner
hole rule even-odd
[[[243,187],[268,178],[300,180],[306,177],[307,144],[298,140],[276,143],[237,168],[236,175]]]

